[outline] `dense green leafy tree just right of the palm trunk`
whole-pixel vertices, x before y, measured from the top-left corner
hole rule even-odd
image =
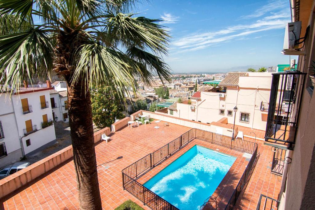
[[[109,127],[115,119],[125,117],[117,92],[110,87],[93,88],[91,92],[93,122],[97,127]]]

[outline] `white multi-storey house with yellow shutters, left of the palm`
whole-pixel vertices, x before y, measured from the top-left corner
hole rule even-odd
[[[56,142],[50,82],[35,84],[0,96],[0,166],[19,161]]]

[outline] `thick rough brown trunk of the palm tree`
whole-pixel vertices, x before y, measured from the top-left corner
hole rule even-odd
[[[69,81],[67,83],[69,124],[80,209],[101,209],[89,88],[84,82],[77,82],[72,86]]]

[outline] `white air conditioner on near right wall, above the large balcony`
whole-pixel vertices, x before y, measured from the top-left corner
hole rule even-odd
[[[301,35],[301,21],[287,23],[285,25],[283,49],[297,49]]]

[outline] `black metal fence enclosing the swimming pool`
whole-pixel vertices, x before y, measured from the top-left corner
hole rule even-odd
[[[235,139],[232,141],[232,138],[229,136],[220,135],[197,128],[192,128],[186,133],[180,135],[180,137],[169,142],[167,145],[164,145],[158,150],[144,156],[140,160],[124,168],[122,170],[123,189],[127,190],[129,193],[134,195],[136,198],[138,198],[145,205],[152,209],[177,210],[177,207],[173,206],[151,190],[147,189],[145,186],[137,182],[137,179],[149,170],[151,170],[157,164],[161,163],[163,160],[169,158],[172,154],[180,150],[183,146],[187,145],[193,139],[200,139],[212,144],[230,148],[232,150],[238,150],[241,152],[253,154],[240,180],[241,185],[239,183],[237,189],[235,190],[240,193],[255,162],[257,156],[257,144],[254,142],[239,139]],[[233,193],[233,196],[228,203],[228,207],[234,207],[239,193]],[[235,200],[235,202],[233,202],[233,200]]]

